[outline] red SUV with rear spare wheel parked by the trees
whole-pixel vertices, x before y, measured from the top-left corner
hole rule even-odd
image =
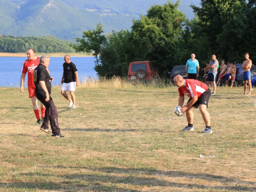
[[[151,61],[131,62],[128,80],[147,80],[157,77],[157,71]]]

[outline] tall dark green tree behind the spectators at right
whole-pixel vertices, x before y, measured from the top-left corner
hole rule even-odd
[[[192,5],[197,19],[191,22],[193,49],[231,61],[241,60],[248,30],[245,0],[202,0],[201,7]],[[197,53],[196,53],[197,54]]]

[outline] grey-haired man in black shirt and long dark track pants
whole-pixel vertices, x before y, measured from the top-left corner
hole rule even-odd
[[[46,107],[45,120],[42,123],[40,130],[50,134],[50,120],[52,137],[64,137],[60,135],[60,129],[58,126],[58,112],[51,97],[51,82],[53,78],[47,71],[49,65],[50,57],[41,56],[40,63],[34,70],[35,95],[36,98]]]

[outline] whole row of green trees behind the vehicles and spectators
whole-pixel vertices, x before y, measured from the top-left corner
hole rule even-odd
[[[76,38],[76,51],[93,53],[100,76],[126,76],[132,61],[151,60],[160,75],[174,66],[185,65],[191,53],[200,66],[217,59],[241,63],[244,53],[256,59],[256,0],[201,0],[191,5],[194,19],[178,10],[180,1],[153,5],[146,15],[133,20],[131,31],[104,35],[103,26]]]

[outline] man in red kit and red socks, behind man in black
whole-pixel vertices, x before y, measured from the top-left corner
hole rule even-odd
[[[20,92],[24,92],[24,81],[25,81],[25,77],[26,77],[26,73],[28,72],[28,90],[29,90],[29,98],[31,98],[32,101],[32,105],[33,105],[33,110],[37,119],[37,122],[35,124],[41,124],[42,121],[44,121],[45,118],[45,111],[46,108],[44,106],[44,104],[40,103],[40,107],[41,107],[41,118],[40,119],[40,113],[39,113],[39,109],[37,106],[37,99],[35,96],[35,84],[34,84],[34,80],[33,80],[33,73],[34,73],[34,69],[39,65],[40,61],[39,61],[39,57],[35,56],[35,50],[34,49],[29,49],[27,51],[27,57],[28,59],[25,60],[24,64],[23,64],[23,70],[22,70],[22,76],[20,77]]]

